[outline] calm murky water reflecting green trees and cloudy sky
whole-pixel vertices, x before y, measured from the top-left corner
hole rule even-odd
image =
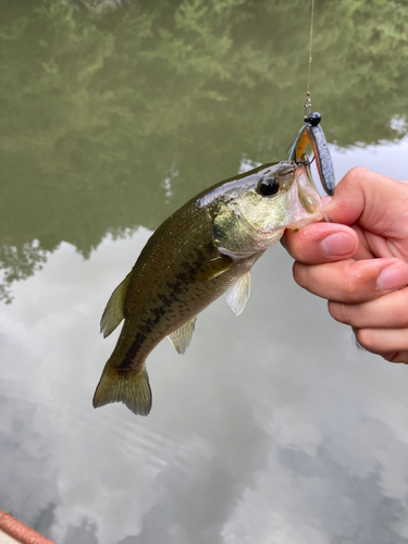
[[[99,319],[172,211],[281,160],[309,2],[0,8],[0,508],[61,544],[408,542],[408,372],[360,354],[274,247],[236,319],[149,357],[148,418],[91,397]],[[407,178],[408,8],[317,0],[313,109],[337,178]],[[112,335],[114,336],[114,334]]]

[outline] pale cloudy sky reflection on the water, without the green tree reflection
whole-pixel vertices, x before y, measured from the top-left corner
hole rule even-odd
[[[336,173],[379,159],[403,178],[406,148],[334,149]],[[99,318],[149,235],[107,236],[87,260],[62,243],[14,284],[2,507],[62,544],[408,542],[406,367],[359,353],[281,246],[255,267],[239,319],[223,297],[185,357],[166,341],[149,356],[148,418],[92,409],[115,342]]]

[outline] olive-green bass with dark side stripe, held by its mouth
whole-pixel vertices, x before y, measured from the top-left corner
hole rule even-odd
[[[305,156],[306,158],[306,156]],[[191,198],[151,235],[113,290],[101,318],[109,336],[124,321],[104,366],[94,407],[124,403],[147,416],[152,404],[146,359],[165,336],[187,349],[198,313],[224,293],[239,314],[250,269],[285,228],[323,220],[307,158],[267,163]]]

